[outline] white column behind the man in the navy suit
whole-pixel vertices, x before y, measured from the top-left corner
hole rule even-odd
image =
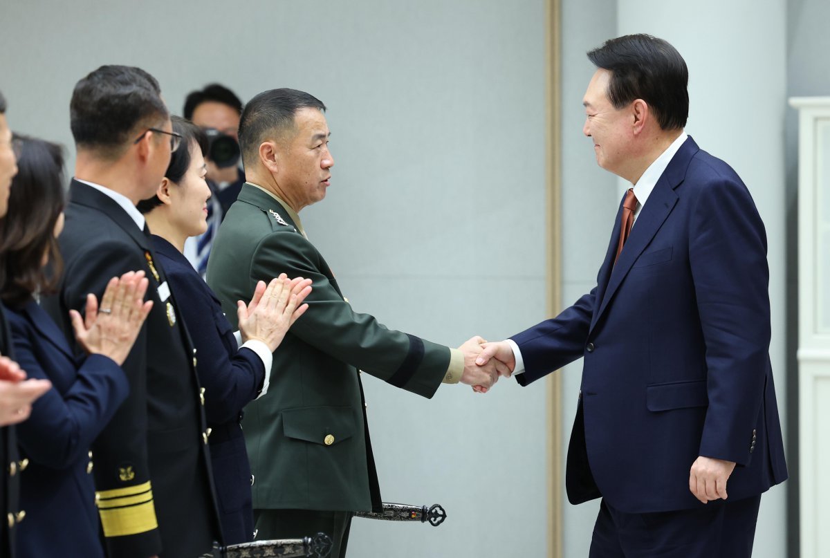
[[[786,417],[784,111],[786,2],[619,0],[618,34],[650,33],[680,51],[689,66],[686,131],[729,163],[752,193],[769,241],[769,353]],[[616,195],[616,193],[615,193]],[[782,424],[784,427],[784,424]],[[784,427],[784,431],[786,431]],[[761,499],[756,558],[786,556],[787,485]]]

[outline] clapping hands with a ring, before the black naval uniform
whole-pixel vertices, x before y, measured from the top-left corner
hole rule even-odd
[[[144,272],[128,272],[107,283],[100,307],[95,295],[86,296],[85,316],[69,311],[75,338],[90,355],[105,355],[120,366],[133,348],[153,301],[144,302],[148,281]]]

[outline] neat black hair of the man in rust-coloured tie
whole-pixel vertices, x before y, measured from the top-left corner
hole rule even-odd
[[[614,108],[642,99],[656,113],[662,130],[686,126],[689,70],[671,44],[651,35],[626,35],[588,51],[588,59],[611,72],[608,100]]]

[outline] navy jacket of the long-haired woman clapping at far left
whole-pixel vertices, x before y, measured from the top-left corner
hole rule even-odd
[[[52,389],[32,404],[17,426],[21,458],[20,556],[104,556],[98,536],[90,445],[127,398],[124,371],[104,355],[76,365],[55,322],[34,301],[8,310],[17,363],[28,378],[49,379]]]

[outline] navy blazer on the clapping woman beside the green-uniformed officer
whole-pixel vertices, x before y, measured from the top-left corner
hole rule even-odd
[[[239,421],[242,408],[262,389],[265,367],[254,351],[237,347],[222,305],[187,258],[164,238],[152,238],[170,288],[177,293],[181,319],[199,354],[196,371],[205,389],[205,414],[212,429],[208,442],[222,542],[233,545],[251,541],[253,478]]]

